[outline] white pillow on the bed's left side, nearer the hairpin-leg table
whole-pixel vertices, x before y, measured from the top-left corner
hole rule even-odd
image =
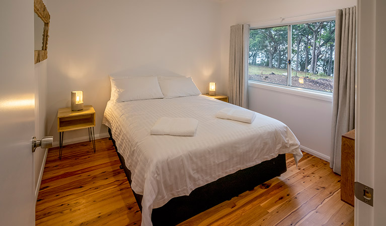
[[[115,102],[164,98],[155,76],[113,78],[111,86]]]

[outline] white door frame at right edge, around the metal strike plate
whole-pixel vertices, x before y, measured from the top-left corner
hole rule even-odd
[[[355,225],[386,225],[386,1],[358,0],[355,181],[374,189],[355,198]]]

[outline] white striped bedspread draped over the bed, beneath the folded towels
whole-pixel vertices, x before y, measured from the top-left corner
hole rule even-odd
[[[283,123],[261,114],[252,124],[216,118],[225,107],[240,109],[203,95],[107,103],[103,124],[132,173],[132,189],[143,195],[142,225],[151,225],[153,208],[220,177],[278,154],[301,158],[299,141]],[[161,117],[197,119],[196,136],[150,135]]]

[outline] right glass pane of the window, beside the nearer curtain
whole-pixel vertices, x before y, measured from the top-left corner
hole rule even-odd
[[[335,21],[292,25],[291,85],[332,92]]]

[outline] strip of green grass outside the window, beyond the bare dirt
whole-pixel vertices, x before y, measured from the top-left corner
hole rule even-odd
[[[269,68],[265,66],[257,66],[257,65],[252,65],[249,64],[249,74],[271,74],[272,72],[275,74],[283,75],[287,74],[287,69],[286,68]],[[292,76],[296,75],[296,71],[292,69]],[[333,79],[333,76],[328,76],[328,75],[321,75],[321,74],[313,74],[313,73],[308,73],[304,71],[297,71],[297,77],[306,77],[311,79],[318,79],[318,78],[325,78],[325,79]]]

